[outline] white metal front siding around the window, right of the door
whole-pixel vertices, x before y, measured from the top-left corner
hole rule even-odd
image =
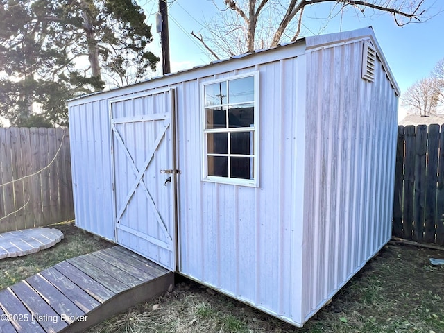
[[[302,216],[295,202],[303,188],[303,154],[294,153],[304,145],[303,137],[296,138],[304,118],[305,96],[297,93],[305,85],[298,76],[302,68],[293,58],[202,79],[260,72],[259,188],[200,180],[199,85],[189,81],[178,89],[180,271],[286,318],[300,314],[293,293],[301,288],[295,275],[302,239],[294,216]],[[295,172],[296,160],[302,173]]]

